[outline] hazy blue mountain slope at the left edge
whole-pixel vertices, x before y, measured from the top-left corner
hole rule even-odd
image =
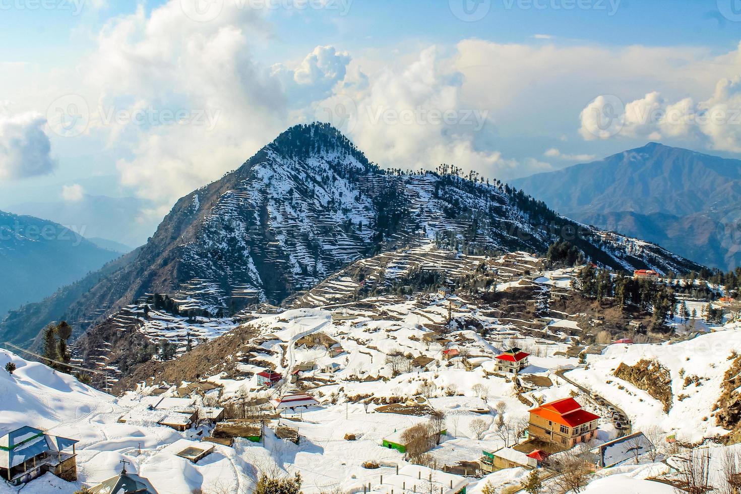
[[[0,320],[118,256],[53,221],[0,211]]]

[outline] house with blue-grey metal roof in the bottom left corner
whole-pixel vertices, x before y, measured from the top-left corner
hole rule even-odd
[[[13,485],[25,484],[47,472],[76,481],[77,442],[36,427],[12,430],[0,437],[0,476]]]

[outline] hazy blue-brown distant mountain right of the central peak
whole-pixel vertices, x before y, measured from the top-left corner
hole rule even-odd
[[[650,142],[512,182],[559,213],[700,264],[741,264],[741,160]]]

